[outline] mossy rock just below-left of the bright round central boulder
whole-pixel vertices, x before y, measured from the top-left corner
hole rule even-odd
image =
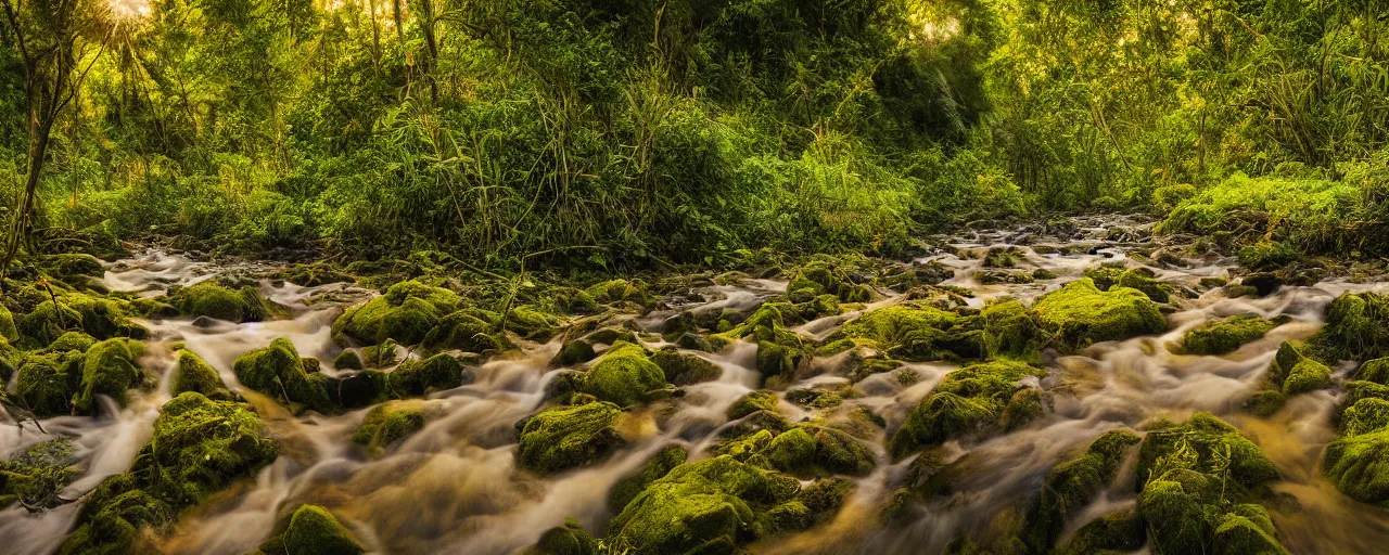
[[[518,459],[538,475],[586,466],[625,444],[613,427],[622,409],[611,402],[551,408],[521,427]]]

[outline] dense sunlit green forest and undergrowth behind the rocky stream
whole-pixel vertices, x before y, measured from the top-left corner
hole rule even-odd
[[[8,253],[157,234],[613,269],[1086,211],[1383,248],[1378,0],[6,8]]]

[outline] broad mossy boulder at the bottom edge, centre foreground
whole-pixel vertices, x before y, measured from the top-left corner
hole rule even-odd
[[[608,538],[640,554],[731,552],[774,530],[768,511],[800,484],[732,456],[683,463],[653,481],[608,526]],[[703,551],[713,547],[721,551]]]

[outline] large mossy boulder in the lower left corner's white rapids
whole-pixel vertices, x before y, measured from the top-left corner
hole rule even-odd
[[[154,497],[186,506],[250,476],[275,455],[275,440],[263,433],[254,412],[182,393],[164,404],[131,473]]]

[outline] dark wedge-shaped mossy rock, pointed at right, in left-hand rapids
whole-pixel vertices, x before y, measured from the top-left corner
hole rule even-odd
[[[236,359],[232,370],[242,386],[260,391],[290,405],[321,413],[333,413],[336,407],[328,394],[329,380],[317,372],[317,365],[304,364],[294,344],[279,337],[268,347],[257,348]]]

